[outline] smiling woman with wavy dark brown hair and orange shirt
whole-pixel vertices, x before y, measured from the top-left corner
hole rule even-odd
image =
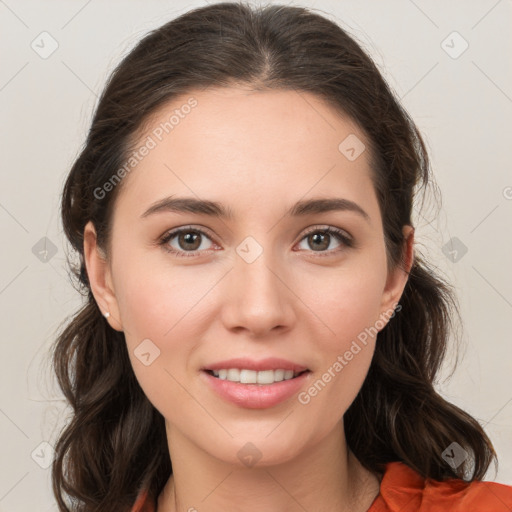
[[[430,180],[321,16],[220,3],[144,37],[62,197],[87,303],[54,348],[60,510],[509,510],[434,389],[457,308],[414,248]]]

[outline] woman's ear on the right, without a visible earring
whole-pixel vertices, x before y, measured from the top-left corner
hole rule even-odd
[[[403,264],[398,265],[388,274],[386,286],[382,294],[380,318],[385,319],[386,323],[402,297],[414,262],[414,228],[406,225],[403,227],[402,232],[405,238],[402,248]]]

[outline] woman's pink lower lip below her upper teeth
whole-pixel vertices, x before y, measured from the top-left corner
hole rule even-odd
[[[219,379],[206,371],[203,378],[211,388],[225,400],[247,409],[266,409],[284,402],[298,393],[311,372],[304,372],[294,379],[274,382],[274,384],[241,384],[227,379]]]

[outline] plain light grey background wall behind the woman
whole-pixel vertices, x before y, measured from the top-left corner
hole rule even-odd
[[[46,355],[81,300],[65,268],[63,180],[121,56],[148,30],[199,5],[0,0],[0,512],[56,510],[50,468],[41,465],[51,462],[50,445],[68,411]],[[443,205],[439,215],[428,208],[416,215],[418,248],[456,285],[464,322],[460,366],[439,390],[474,415],[495,444],[500,466],[497,474],[491,466],[487,479],[511,484],[511,1],[296,5],[320,9],[359,40],[425,137]],[[31,47],[50,48],[43,31],[58,43],[46,59]],[[463,41],[446,40],[453,31],[469,43],[458,58]],[[47,261],[33,252],[43,237],[57,250]],[[452,237],[465,254],[450,245]]]

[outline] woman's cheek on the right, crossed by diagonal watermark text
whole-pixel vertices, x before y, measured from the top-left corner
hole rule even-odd
[[[308,418],[328,418],[322,427],[326,431],[353,402],[370,367],[385,272],[384,264],[375,259],[340,269],[329,274],[329,279],[317,279],[316,286],[313,281],[302,281],[303,296],[315,305],[311,309],[321,319],[318,332],[322,335],[317,335],[316,346],[322,357],[315,380],[299,396],[299,403],[310,408]]]

